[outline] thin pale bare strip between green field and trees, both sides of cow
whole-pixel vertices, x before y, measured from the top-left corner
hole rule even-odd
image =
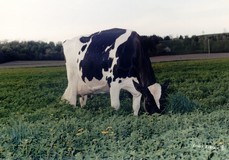
[[[172,55],[151,57],[151,62],[170,62],[185,61],[198,59],[216,59],[229,58],[229,53],[211,53],[211,54],[188,54],[188,55]],[[64,66],[65,61],[12,61],[0,64],[0,68],[27,68],[27,67],[52,67]]]

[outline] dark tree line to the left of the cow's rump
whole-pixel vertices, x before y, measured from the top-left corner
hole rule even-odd
[[[63,60],[62,44],[42,41],[0,42],[0,63],[14,60]]]

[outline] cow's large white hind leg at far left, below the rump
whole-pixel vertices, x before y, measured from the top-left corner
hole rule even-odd
[[[76,79],[76,74],[72,68],[74,68],[74,67],[68,66],[66,64],[68,87],[66,88],[61,99],[67,100],[71,105],[76,106],[77,79]]]

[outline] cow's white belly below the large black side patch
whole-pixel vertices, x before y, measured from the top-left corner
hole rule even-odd
[[[84,82],[80,79],[77,84],[77,94],[81,96],[107,92],[109,92],[109,86],[105,80],[97,80],[93,78],[91,81],[86,79]]]

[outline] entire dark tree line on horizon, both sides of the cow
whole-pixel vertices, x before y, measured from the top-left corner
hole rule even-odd
[[[164,38],[141,36],[145,53],[149,56],[190,53],[229,52],[229,33]],[[64,60],[62,43],[42,41],[0,42],[0,63],[14,60]]]

